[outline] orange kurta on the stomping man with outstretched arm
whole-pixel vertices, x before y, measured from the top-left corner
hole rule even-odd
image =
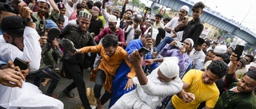
[[[106,74],[106,81],[104,84],[104,88],[106,91],[111,92],[110,88],[112,86],[112,81],[114,80],[114,76],[119,66],[122,64],[122,60],[125,60],[126,64],[130,67],[130,72],[127,74],[127,76],[130,78],[134,78],[134,76],[136,75],[134,68],[132,67],[130,62],[127,60],[128,53],[126,53],[126,50],[122,49],[122,47],[120,46],[118,46],[118,48],[116,49],[115,53],[112,56],[106,55],[102,45],[83,47],[82,53],[101,53],[102,54],[102,60],[98,65],[98,69],[101,69]],[[95,76],[95,73],[96,72],[93,72],[92,75]]]

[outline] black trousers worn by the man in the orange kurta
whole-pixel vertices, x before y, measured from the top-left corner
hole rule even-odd
[[[102,86],[105,83],[106,80],[106,74],[101,69],[98,69],[95,85],[94,85],[94,96],[96,99],[99,99],[101,96]],[[105,93],[102,95],[101,103],[102,105],[106,103],[111,98],[112,93],[105,91]]]

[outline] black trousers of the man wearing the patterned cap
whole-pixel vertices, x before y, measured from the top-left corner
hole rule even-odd
[[[71,91],[74,88],[78,88],[78,94],[83,107],[85,107],[86,109],[91,109],[90,103],[86,96],[86,83],[83,80],[82,65],[74,64],[74,63],[70,63],[69,61],[66,61],[65,67],[66,67],[66,72],[70,72],[70,76],[74,80],[73,83],[71,83],[68,87],[66,87],[66,90]]]

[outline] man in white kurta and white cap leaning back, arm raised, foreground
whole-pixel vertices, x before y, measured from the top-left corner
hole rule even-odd
[[[129,60],[136,71],[137,77],[133,80],[137,88],[122,95],[110,109],[153,109],[161,106],[162,99],[166,96],[175,95],[182,90],[182,80],[178,77],[177,57],[165,57],[162,64],[146,76],[141,66],[136,67],[137,65],[134,64],[140,65],[141,59],[136,57],[131,59],[136,55],[139,55],[138,51],[130,54]]]

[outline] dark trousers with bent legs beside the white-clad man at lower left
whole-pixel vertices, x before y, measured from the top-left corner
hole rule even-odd
[[[34,77],[34,85],[38,88],[41,84],[42,78],[49,78],[51,79],[50,85],[46,91],[46,95],[53,95],[55,88],[58,85],[58,81],[60,80],[60,76],[50,68],[39,69],[38,73],[35,73]]]

